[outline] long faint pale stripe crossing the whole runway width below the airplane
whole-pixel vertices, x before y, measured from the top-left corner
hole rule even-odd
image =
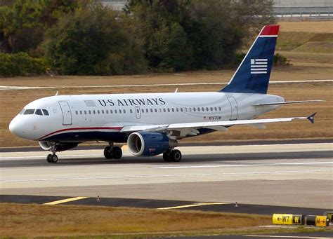
[[[115,177],[60,177],[45,179],[8,179],[0,180],[4,182],[49,182],[49,181],[68,181],[68,180],[98,180],[98,179],[138,179],[138,178],[158,178],[158,177],[202,177],[215,175],[263,175],[279,173],[310,173],[310,172],[333,172],[333,170],[283,170],[283,171],[263,171],[263,172],[221,172],[221,173],[193,173],[193,174],[173,174],[173,175],[137,175],[137,176],[115,176]]]

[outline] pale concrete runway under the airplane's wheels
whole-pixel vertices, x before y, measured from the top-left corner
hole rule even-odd
[[[102,150],[0,153],[1,194],[143,198],[333,209],[332,143],[184,146],[181,163],[162,156],[120,161]]]

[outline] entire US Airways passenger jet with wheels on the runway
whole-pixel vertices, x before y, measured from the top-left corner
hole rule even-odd
[[[278,95],[268,95],[279,25],[266,25],[256,37],[228,85],[217,92],[143,93],[105,95],[55,95],[27,104],[13,118],[9,130],[22,139],[39,142],[51,151],[48,163],[56,163],[56,152],[82,142],[103,141],[107,159],[122,158],[115,143],[127,143],[134,156],[163,154],[166,162],[180,162],[178,140],[236,125],[266,128],[265,123],[308,117],[257,118],[285,104]]]

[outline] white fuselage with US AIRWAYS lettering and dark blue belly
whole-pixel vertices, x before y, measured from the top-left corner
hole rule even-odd
[[[284,101],[276,95],[219,92],[57,95],[27,104],[25,110],[34,113],[15,116],[10,130],[41,142],[126,142],[127,135],[120,134],[126,125],[247,120],[279,107],[253,104]]]

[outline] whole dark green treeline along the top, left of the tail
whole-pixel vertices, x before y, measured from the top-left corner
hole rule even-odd
[[[2,76],[221,69],[274,22],[272,0],[130,0],[120,12],[93,0],[0,4]]]

